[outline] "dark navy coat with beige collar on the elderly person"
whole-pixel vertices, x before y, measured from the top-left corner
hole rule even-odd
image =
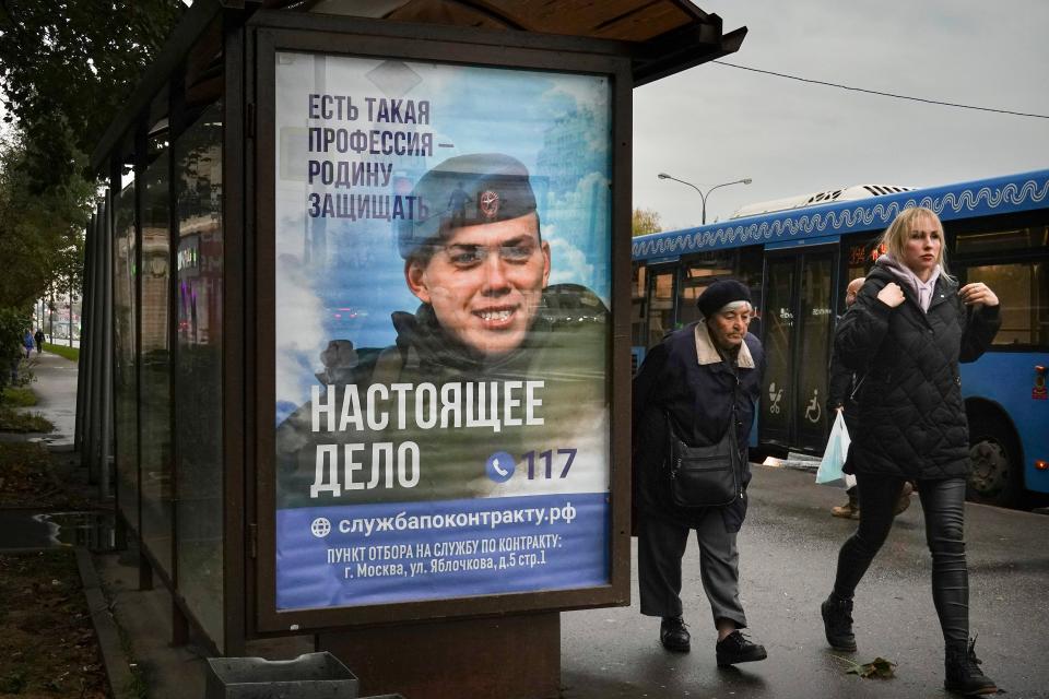
[[[741,451],[744,488],[751,481],[746,445],[765,374],[765,353],[747,333],[746,353],[753,366],[732,367],[717,355],[704,323],[692,323],[667,335],[645,357],[634,379],[634,496],[641,517],[659,517],[694,526],[706,509],[672,503],[667,451],[667,415],[677,436],[692,447],[708,447],[734,427]],[[735,425],[732,406],[735,405]],[[738,532],[746,516],[746,495],[722,508],[728,531]]]

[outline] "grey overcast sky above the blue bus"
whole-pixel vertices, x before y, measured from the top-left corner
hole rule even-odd
[[[694,0],[723,60],[868,90],[1049,115],[1049,0]],[[664,229],[849,185],[926,187],[1049,168],[1049,119],[891,99],[706,63],[634,91],[634,205]]]

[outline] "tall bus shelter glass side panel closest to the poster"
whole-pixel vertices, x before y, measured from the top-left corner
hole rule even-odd
[[[175,142],[178,312],[175,440],[178,589],[222,643],[222,108]]]

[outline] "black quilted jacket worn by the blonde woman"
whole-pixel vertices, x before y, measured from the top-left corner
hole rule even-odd
[[[994,307],[967,308],[942,274],[928,312],[911,289],[889,308],[877,294],[892,272],[876,265],[835,333],[835,350],[860,377],[849,464],[857,473],[908,479],[964,477],[968,423],[958,362],[975,362],[1001,324]],[[898,283],[898,282],[897,282]]]

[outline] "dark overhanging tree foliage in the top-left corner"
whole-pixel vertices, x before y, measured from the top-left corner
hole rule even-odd
[[[180,0],[0,0],[0,92],[31,190],[69,183],[186,10]],[[89,175],[90,177],[90,175]]]

